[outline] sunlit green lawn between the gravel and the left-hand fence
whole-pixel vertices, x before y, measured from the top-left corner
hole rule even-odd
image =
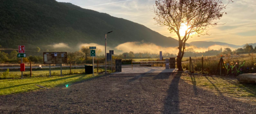
[[[104,74],[95,74],[94,77],[101,76]],[[86,79],[93,78],[93,75],[67,75],[67,76],[53,76],[53,77],[32,77],[24,79],[4,79],[0,80],[0,95],[16,94],[22,92],[34,91],[42,89],[37,85],[41,85],[47,88],[56,86],[70,85],[74,82],[83,81]]]

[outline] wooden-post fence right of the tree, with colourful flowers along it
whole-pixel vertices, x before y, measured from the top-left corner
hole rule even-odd
[[[222,59],[222,60],[221,60]],[[183,68],[190,72],[212,75],[234,75],[256,73],[256,59],[232,57],[195,57],[189,63],[183,63]]]

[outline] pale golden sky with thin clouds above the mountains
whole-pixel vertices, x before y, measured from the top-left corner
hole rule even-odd
[[[154,9],[155,0],[56,0],[69,2],[85,9],[91,9],[114,17],[124,18],[144,25],[162,35],[178,39],[175,33],[170,33],[167,27],[156,25]],[[234,45],[256,43],[256,2],[255,0],[233,0],[225,9],[217,27],[210,27],[211,35],[193,36],[187,42],[214,41]],[[223,0],[228,3],[228,0]]]

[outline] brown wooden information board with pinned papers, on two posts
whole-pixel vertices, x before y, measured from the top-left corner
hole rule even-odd
[[[67,63],[67,52],[44,52],[44,64],[63,64]]]

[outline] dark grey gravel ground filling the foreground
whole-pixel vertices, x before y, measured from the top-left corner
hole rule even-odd
[[[193,85],[181,73],[113,74],[51,90],[0,96],[6,113],[256,114],[256,106]]]

